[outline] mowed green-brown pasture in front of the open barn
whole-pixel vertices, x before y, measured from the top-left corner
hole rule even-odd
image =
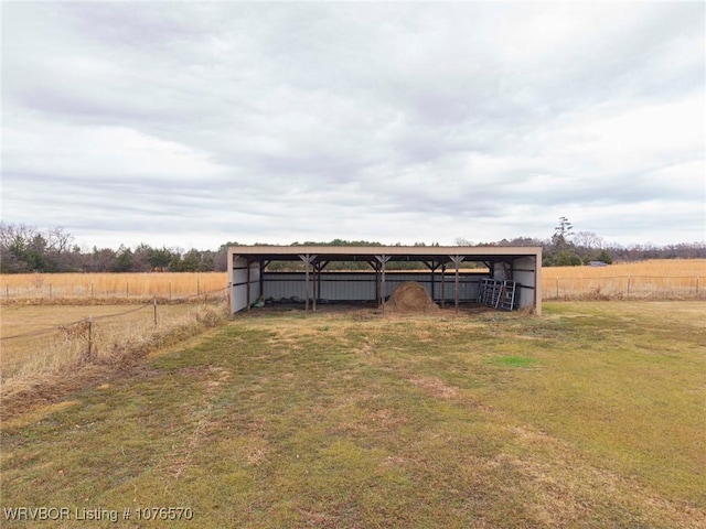
[[[704,322],[253,311],[4,421],[2,504],[69,508],[52,527],[700,528]]]

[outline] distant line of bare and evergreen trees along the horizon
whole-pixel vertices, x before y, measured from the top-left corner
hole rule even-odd
[[[682,242],[666,246],[633,245],[622,247],[607,244],[601,237],[589,231],[574,233],[566,217],[559,219],[552,237],[537,239],[517,237],[492,242],[471,242],[457,239],[459,246],[541,246],[543,266],[580,266],[590,261],[638,261],[644,259],[704,259],[706,242]],[[0,223],[0,273],[30,272],[212,272],[225,271],[227,267],[227,247],[217,250],[182,250],[179,248],[153,248],[141,244],[129,248],[121,245],[111,248],[82,249],[74,238],[63,228],[41,230],[24,225]],[[328,242],[292,242],[290,246],[383,246],[367,240],[333,239]],[[402,246],[397,244],[397,246]],[[415,246],[439,246],[416,242]],[[272,263],[277,269],[278,263]],[[292,263],[279,263],[282,268],[292,268]],[[367,269],[367,263],[341,263],[345,269]],[[391,263],[393,268],[424,268],[417,262]],[[293,267],[296,268],[296,266]]]

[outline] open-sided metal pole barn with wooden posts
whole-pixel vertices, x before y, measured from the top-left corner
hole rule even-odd
[[[303,264],[303,271],[269,271],[275,261]],[[327,271],[332,262],[361,261],[370,271]],[[389,270],[391,262],[420,262],[426,271]],[[461,270],[475,262],[485,270]],[[334,267],[331,267],[334,268]],[[452,270],[449,271],[449,270]],[[542,248],[507,246],[229,246],[231,307],[249,309],[258,298],[298,298],[306,310],[317,302],[385,299],[404,281],[418,281],[442,306],[481,302],[542,314]]]

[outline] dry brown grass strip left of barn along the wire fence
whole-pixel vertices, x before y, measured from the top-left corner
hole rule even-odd
[[[3,306],[3,415],[110,376],[150,350],[216,325],[225,314],[224,304]]]

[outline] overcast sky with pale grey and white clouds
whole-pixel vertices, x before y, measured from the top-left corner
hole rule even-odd
[[[706,4],[2,3],[2,220],[76,242],[706,239]]]

